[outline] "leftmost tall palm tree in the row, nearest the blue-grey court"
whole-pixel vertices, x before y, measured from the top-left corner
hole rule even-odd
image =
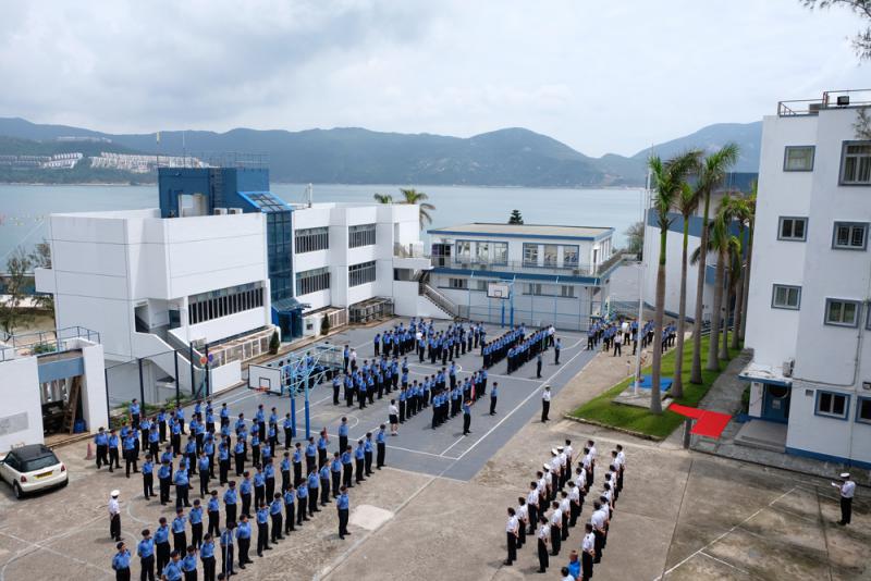
[[[683,190],[683,184],[697,163],[698,151],[682,153],[663,163],[659,156],[648,161],[653,181],[653,209],[657,211],[660,228],[660,260],[657,269],[657,310],[653,314],[655,327],[653,339],[653,366],[651,370],[650,411],[662,413],[660,384],[662,378],[662,319],[665,311],[665,250],[668,240],[668,226],[672,223],[671,209]]]

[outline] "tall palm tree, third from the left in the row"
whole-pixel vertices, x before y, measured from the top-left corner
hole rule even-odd
[[[738,160],[738,146],[726,144],[719,151],[711,153],[699,166],[699,180],[696,189],[699,198],[704,199],[704,213],[702,214],[701,242],[699,248],[708,248],[709,215],[711,211],[711,193],[716,189],[726,170]],[[689,375],[691,383],[702,383],[701,378],[701,314],[702,299],[704,296],[704,269],[707,267],[707,252],[699,256],[699,276],[696,282],[696,312],[692,324],[692,370]],[[710,364],[710,361],[709,361]]]

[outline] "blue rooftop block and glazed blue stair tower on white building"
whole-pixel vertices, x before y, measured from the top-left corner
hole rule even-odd
[[[182,215],[184,196],[199,196],[201,213],[240,208],[267,214],[267,255],[272,323],[285,341],[303,336],[303,308],[293,296],[293,208],[269,190],[266,168],[160,168],[160,215]],[[193,198],[192,198],[193,200]]]

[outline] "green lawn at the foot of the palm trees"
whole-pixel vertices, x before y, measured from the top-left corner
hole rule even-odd
[[[702,364],[702,384],[696,385],[689,383],[689,372],[692,369],[692,342],[687,341],[684,345],[684,397],[677,398],[675,401],[686,406],[696,406],[699,400],[704,397],[708,390],[711,388],[714,381],[720,376],[720,371],[707,371],[704,364],[708,359],[708,343],[709,336],[706,335],[701,339],[701,364]],[[736,357],[740,351],[729,349],[729,358]],[[672,348],[662,357],[662,375],[673,376],[675,363],[675,349]],[[727,361],[721,361],[720,367],[726,369]],[[646,367],[641,371],[643,374],[650,373],[650,367]],[[662,416],[655,416],[643,408],[633,406],[625,406],[612,403],[626,387],[631,385],[633,379],[626,380],[614,385],[602,395],[594,397],[587,401],[578,409],[572,412],[575,418],[582,418],[591,420],[604,425],[613,428],[621,428],[630,430],[633,432],[640,432],[657,440],[664,440],[671,434],[675,428],[680,425],[685,418],[673,411],[663,411]]]

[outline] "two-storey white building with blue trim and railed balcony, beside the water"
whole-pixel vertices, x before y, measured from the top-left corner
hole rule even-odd
[[[476,321],[586,330],[590,318],[602,313],[609,275],[618,262],[613,233],[491,223],[430,230],[433,270],[426,290],[447,310]],[[501,288],[503,297],[493,296]]]

